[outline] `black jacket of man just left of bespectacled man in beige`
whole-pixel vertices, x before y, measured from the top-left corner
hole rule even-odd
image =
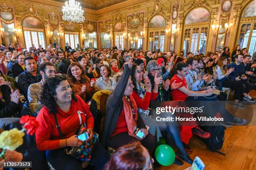
[[[28,86],[33,83],[40,82],[41,79],[42,79],[42,76],[39,73],[39,71],[36,72],[36,77],[31,75],[31,73],[28,72],[28,70],[25,70],[23,73],[21,73],[18,76],[18,85],[27,100],[28,100]]]

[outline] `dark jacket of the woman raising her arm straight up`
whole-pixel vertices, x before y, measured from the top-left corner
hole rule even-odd
[[[125,65],[123,75],[120,78],[118,84],[115,87],[114,92],[108,96],[106,106],[106,117],[104,127],[101,134],[101,144],[107,149],[109,145],[110,136],[115,130],[118,117],[123,110],[123,94],[127,86],[129,76],[131,75],[131,69],[128,65]],[[140,114],[138,114],[137,125],[139,128],[146,128]]]

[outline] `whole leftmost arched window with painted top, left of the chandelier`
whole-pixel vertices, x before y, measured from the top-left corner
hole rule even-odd
[[[29,49],[32,44],[34,44],[36,48],[38,48],[40,44],[45,49],[44,25],[41,20],[36,17],[26,17],[22,21],[22,27],[26,49]]]

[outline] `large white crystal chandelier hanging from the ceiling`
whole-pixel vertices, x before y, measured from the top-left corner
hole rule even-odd
[[[63,6],[62,20],[83,23],[84,22],[84,10],[81,9],[80,3],[75,0],[68,0]]]

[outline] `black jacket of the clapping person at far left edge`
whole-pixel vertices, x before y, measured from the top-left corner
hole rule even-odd
[[[23,109],[22,102],[11,102],[10,94],[11,90],[8,85],[0,86],[1,92],[3,94],[3,99],[0,100],[0,118],[4,117],[20,117],[19,111]]]

